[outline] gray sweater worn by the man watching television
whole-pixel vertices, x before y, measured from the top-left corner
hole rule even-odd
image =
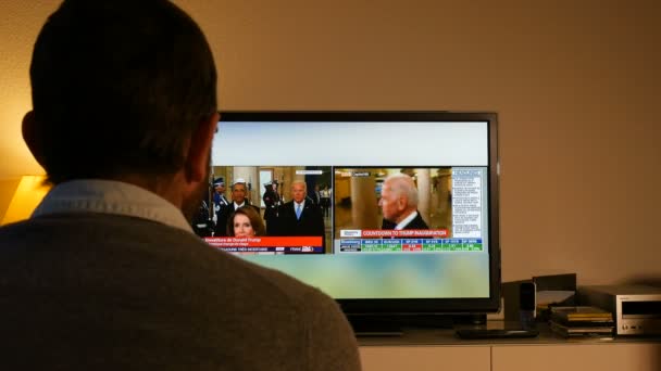
[[[359,370],[336,303],[146,219],[0,228],[0,368]]]

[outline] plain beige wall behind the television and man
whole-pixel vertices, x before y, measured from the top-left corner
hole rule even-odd
[[[223,108],[497,111],[506,281],[661,277],[658,1],[177,2]],[[0,178],[39,170],[18,123],[55,4],[0,2]]]

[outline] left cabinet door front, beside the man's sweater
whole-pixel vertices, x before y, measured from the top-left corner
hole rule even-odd
[[[489,371],[491,369],[488,345],[361,346],[360,358],[364,371]]]

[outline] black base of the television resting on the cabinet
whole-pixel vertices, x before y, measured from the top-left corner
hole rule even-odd
[[[403,329],[452,329],[485,324],[486,314],[348,315],[357,336],[401,336]]]

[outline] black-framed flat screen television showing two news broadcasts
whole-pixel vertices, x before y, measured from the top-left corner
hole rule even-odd
[[[205,239],[321,289],[350,319],[497,311],[497,128],[496,113],[221,112],[211,180],[226,203],[241,184],[265,228],[234,233],[211,194],[221,225]]]

